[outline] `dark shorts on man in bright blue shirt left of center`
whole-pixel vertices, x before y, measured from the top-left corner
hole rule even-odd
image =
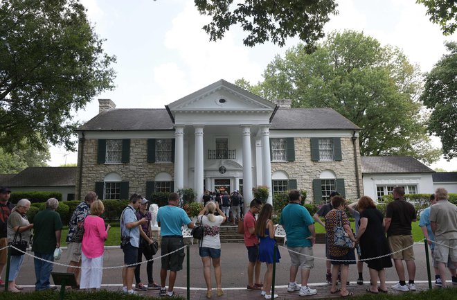
[[[164,255],[161,258],[162,261],[162,269],[170,270],[170,271],[181,271],[183,270],[183,261],[184,261],[184,249],[179,250],[178,252],[174,252],[175,250],[182,248],[184,246],[183,238],[182,237],[162,237],[161,242],[161,255]],[[173,254],[166,255],[170,252],[174,252]]]

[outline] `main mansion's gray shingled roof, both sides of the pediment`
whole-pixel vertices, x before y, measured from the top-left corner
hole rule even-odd
[[[271,130],[359,130],[331,108],[280,108],[271,121]],[[79,127],[84,131],[173,130],[166,109],[109,109]]]

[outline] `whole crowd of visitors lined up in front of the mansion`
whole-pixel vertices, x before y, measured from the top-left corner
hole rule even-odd
[[[35,290],[53,289],[55,287],[51,287],[49,279],[53,270],[54,252],[60,248],[62,233],[60,215],[55,211],[59,202],[55,198],[47,200],[46,209],[39,211],[33,219],[33,224],[30,224],[26,217],[30,201],[22,199],[14,206],[8,201],[10,193],[8,188],[0,188],[0,248],[6,247],[8,242],[17,240],[18,236],[21,240],[31,242],[33,229]],[[391,288],[404,292],[416,290],[411,226],[417,215],[414,206],[404,198],[404,188],[395,187],[392,194],[394,201],[386,205],[386,215],[377,209],[375,202],[368,196],[348,204],[338,192],[333,192],[330,195],[330,202],[321,206],[312,216],[305,206],[301,205],[301,193],[297,190],[289,191],[289,204],[284,207],[279,220],[279,224],[286,232],[291,261],[287,292],[298,292],[300,296],[317,293],[316,289],[308,285],[310,272],[314,267],[315,222],[322,224],[326,232],[325,279],[331,284],[331,294],[338,293],[341,297],[352,295],[348,290],[348,273],[349,266],[356,263],[359,274],[357,284],[364,283],[363,263],[368,266],[370,286],[366,292],[388,292],[385,269],[393,266],[397,272],[398,283]],[[437,188],[436,193],[430,197],[431,205],[422,211],[419,222],[431,248],[435,283],[442,287],[449,284],[448,272],[451,275],[451,283],[457,284],[457,206],[447,199],[445,188]],[[273,264],[279,263],[281,258],[278,247],[275,247],[274,232],[277,225],[272,220],[273,206],[262,204],[254,198],[243,216],[240,214],[242,197],[238,191],[231,195],[205,193],[203,200],[204,209],[199,212],[197,220],[203,227],[199,256],[203,264],[206,298],[213,297],[211,264],[215,274],[216,294],[218,297],[224,294],[219,229],[230,213],[233,222],[244,217],[242,229],[248,254],[247,290],[258,291],[265,299],[277,298],[278,294],[271,294]],[[182,227],[195,227],[186,211],[179,207],[179,203],[179,195],[170,193],[168,205],[160,207],[156,215],[156,221],[161,228],[162,257],[159,285],[152,276],[152,257],[155,252],[150,226],[152,215],[147,211],[148,201],[136,193],[129,198],[129,204],[120,215],[121,248],[125,264],[122,270],[123,292],[135,294],[135,290],[149,289],[160,290],[161,296],[174,295],[177,272],[182,270],[185,256]],[[227,206],[231,209],[228,210]],[[70,260],[67,272],[74,274],[75,282],[80,289],[96,290],[102,282],[104,243],[110,229],[109,224],[105,227],[105,221],[100,218],[104,211],[103,203],[98,200],[96,193],[89,192],[71,215],[66,236]],[[355,218],[355,233],[352,232],[346,211]],[[141,264],[138,264],[141,263],[143,256],[147,260],[147,285],[141,282]],[[2,282],[8,284],[8,290],[11,292],[19,292],[22,289],[16,284],[15,279],[23,261],[24,256],[11,256],[8,283]],[[0,273],[5,263],[6,251],[3,249],[0,251]],[[262,263],[266,264],[263,282],[260,279]],[[298,270],[301,271],[301,283],[296,282]]]

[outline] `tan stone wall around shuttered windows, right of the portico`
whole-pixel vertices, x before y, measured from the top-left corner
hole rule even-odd
[[[307,201],[314,199],[312,188],[313,179],[318,179],[323,170],[332,170],[337,178],[344,179],[346,198],[357,199],[364,191],[361,178],[361,159],[359,140],[355,141],[357,152],[358,170],[355,168],[354,146],[351,137],[341,138],[341,161],[312,161],[311,139],[295,138],[295,161],[284,163],[271,163],[271,173],[283,170],[289,175],[289,179],[297,180],[297,188],[307,191]],[[356,172],[359,174],[359,193],[357,191]]]

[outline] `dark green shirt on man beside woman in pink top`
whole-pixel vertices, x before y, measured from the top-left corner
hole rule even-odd
[[[32,251],[39,254],[53,254],[57,240],[55,231],[62,230],[62,220],[60,215],[52,209],[40,211],[33,218],[33,236]]]

